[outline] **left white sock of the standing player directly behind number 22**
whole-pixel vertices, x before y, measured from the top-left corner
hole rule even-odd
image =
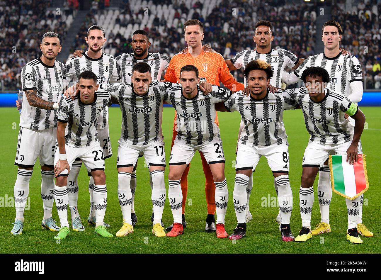
[[[69,208],[71,220],[80,218],[78,213],[78,174],[82,166],[82,160],[73,162],[70,168],[69,176],[67,176],[67,192],[69,193]]]

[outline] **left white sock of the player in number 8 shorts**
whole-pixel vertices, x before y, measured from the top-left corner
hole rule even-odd
[[[247,193],[246,187],[249,177],[244,174],[235,174],[233,203],[235,216],[239,224],[246,222]]]

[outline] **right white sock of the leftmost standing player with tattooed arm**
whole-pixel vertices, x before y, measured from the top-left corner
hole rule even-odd
[[[44,220],[51,218],[54,203],[54,170],[41,170],[41,198],[44,209]]]

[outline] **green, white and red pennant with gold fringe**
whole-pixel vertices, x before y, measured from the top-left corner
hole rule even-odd
[[[365,154],[357,155],[357,162],[350,165],[347,155],[330,155],[331,186],[336,194],[355,199],[369,188]]]

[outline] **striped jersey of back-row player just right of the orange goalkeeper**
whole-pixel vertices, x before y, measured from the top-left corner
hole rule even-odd
[[[298,63],[299,58],[289,51],[279,48],[271,49],[269,53],[258,53],[256,50],[245,50],[237,53],[234,58],[231,59],[232,64],[237,69],[243,67],[245,69],[246,65],[252,61],[261,59],[271,64],[271,68],[274,71],[274,75],[270,80],[270,84],[280,88],[282,86],[282,74],[286,66],[292,68]],[[244,81],[245,87],[247,86],[247,78]]]

